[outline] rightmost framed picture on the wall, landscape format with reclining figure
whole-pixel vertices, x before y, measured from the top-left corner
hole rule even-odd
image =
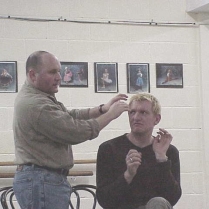
[[[156,63],[157,88],[183,88],[183,64]]]

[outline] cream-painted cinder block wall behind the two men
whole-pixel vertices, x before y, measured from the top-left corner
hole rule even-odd
[[[120,93],[127,93],[126,63],[149,63],[150,92],[162,105],[158,127],[172,133],[172,143],[180,151],[183,195],[175,209],[207,209],[201,30],[198,24],[168,24],[198,22],[198,15],[186,12],[185,0],[2,0],[0,16],[0,61],[17,61],[18,89],[25,80],[25,61],[33,51],[49,51],[60,61],[88,62],[88,88],[60,88],[57,94],[58,100],[68,108],[93,107],[116,95],[95,93],[94,62],[118,63]],[[54,21],[23,21],[14,17]],[[127,22],[119,24],[118,21]],[[182,63],[183,88],[156,88],[156,63]],[[14,159],[12,117],[16,95],[0,94],[1,161]],[[74,156],[76,159],[96,158],[99,144],[125,132],[129,132],[126,113],[109,124],[97,139],[73,146]],[[69,178],[71,184],[96,183],[95,165],[76,165],[74,169],[93,170],[94,176]],[[0,179],[0,186],[11,183],[11,179]],[[84,201],[83,207],[90,208],[90,197]]]

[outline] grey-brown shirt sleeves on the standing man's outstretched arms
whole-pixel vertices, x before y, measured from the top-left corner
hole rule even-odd
[[[99,134],[99,124],[89,118],[89,109],[67,111],[53,102],[40,104],[33,116],[35,129],[50,140],[63,144],[79,144]],[[33,123],[34,124],[34,123]]]

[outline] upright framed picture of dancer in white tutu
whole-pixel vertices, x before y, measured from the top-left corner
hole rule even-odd
[[[118,92],[117,63],[94,63],[95,92]]]

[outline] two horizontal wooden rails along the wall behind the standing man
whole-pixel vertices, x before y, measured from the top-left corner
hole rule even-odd
[[[95,159],[74,160],[74,164],[95,164]],[[16,166],[12,161],[0,162],[0,166]],[[15,172],[0,172],[0,178],[14,178]],[[93,176],[93,171],[70,170],[68,176]]]

